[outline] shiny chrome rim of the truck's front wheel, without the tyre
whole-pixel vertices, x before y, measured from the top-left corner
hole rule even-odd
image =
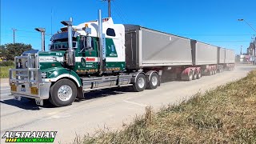
[[[72,97],[72,89],[70,86],[64,85],[58,89],[58,98],[62,101],[68,101]]]

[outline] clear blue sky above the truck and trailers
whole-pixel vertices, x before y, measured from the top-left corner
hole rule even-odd
[[[46,50],[50,34],[63,20],[74,25],[98,18],[98,9],[107,17],[107,2],[102,0],[1,0],[1,45],[13,42],[41,49],[41,35],[35,27],[46,28]],[[138,24],[243,53],[256,36],[254,0],[113,0],[114,23]],[[238,21],[243,18],[246,22]]]

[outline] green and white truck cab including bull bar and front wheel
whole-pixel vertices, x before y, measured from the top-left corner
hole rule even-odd
[[[67,106],[75,98],[83,98],[86,88],[113,85],[117,80],[108,75],[126,69],[125,28],[114,24],[112,18],[62,27],[50,41],[50,51],[15,57],[16,68],[10,70],[15,99],[34,98],[38,105],[49,99],[54,106]],[[105,80],[95,81],[98,77]]]

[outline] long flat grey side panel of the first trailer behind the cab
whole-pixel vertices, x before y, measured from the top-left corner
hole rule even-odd
[[[191,65],[190,39],[142,29],[142,66]]]

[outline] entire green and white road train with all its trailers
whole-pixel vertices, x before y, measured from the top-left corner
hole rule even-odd
[[[62,21],[52,36],[50,51],[30,50],[15,57],[10,70],[14,99],[34,98],[38,105],[49,99],[68,106],[85,92],[117,86],[135,91],[160,86],[162,70],[183,80],[234,69],[234,50],[142,26],[114,24],[103,18],[78,26]],[[42,47],[44,40],[42,40]]]

